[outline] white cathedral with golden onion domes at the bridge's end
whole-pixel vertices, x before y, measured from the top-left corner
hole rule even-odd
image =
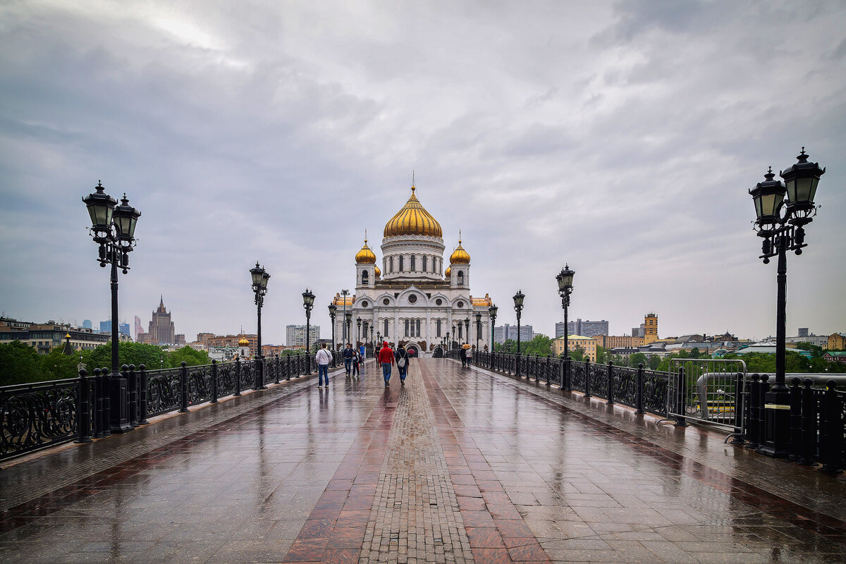
[[[338,348],[346,337],[343,313],[352,313],[347,342],[369,344],[380,339],[393,347],[403,344],[422,356],[442,355],[442,343],[491,346],[492,300],[470,294],[470,255],[461,246],[443,268],[441,224],[420,205],[411,186],[409,200],[385,225],[382,268],[365,244],[355,255],[355,293],[336,294],[335,336]],[[481,315],[481,330],[476,328]],[[360,321],[360,324],[359,324]]]

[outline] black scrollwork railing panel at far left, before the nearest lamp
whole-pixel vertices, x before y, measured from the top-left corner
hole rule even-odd
[[[75,378],[0,388],[0,458],[73,440],[78,404]]]

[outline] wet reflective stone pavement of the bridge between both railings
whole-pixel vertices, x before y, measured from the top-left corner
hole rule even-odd
[[[447,359],[0,471],[3,562],[844,562],[846,479]]]

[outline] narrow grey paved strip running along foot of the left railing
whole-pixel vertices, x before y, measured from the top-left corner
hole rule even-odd
[[[340,374],[342,371],[343,369],[336,370],[332,374]],[[113,435],[85,445],[56,446],[44,452],[36,452],[23,460],[11,461],[0,474],[0,492],[2,492],[0,493],[0,521],[3,520],[4,512],[7,512],[9,508],[74,485],[80,479],[90,478],[140,454],[168,446],[174,441],[183,440],[185,437],[222,424],[244,413],[255,412],[257,408],[266,406],[268,403],[276,402],[313,386],[313,380],[316,378],[316,375],[303,376],[298,380],[281,382],[278,386],[268,386],[264,392],[251,392],[240,398],[228,397],[216,405],[201,404],[191,408],[189,417],[196,418],[193,421],[183,420],[173,424],[174,420],[181,419],[183,416],[167,413],[128,435]],[[201,413],[195,413],[197,411]],[[166,430],[165,427],[168,424],[172,426]],[[69,452],[72,450],[86,451],[87,457],[81,460],[80,458],[85,455],[80,454],[77,457],[77,452]],[[51,457],[53,460],[49,460]],[[48,468],[61,466],[64,461],[57,462],[56,460],[61,457],[74,457],[73,460],[66,461],[68,468],[65,471],[57,473],[53,470],[41,471],[39,468],[41,463],[46,463]]]

